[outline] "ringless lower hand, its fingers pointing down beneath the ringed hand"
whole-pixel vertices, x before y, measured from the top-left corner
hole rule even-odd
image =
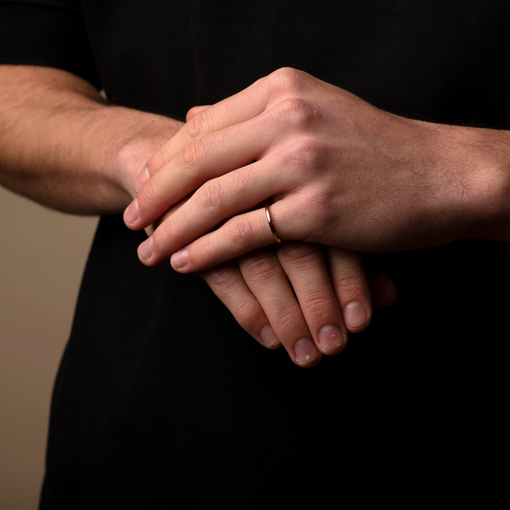
[[[186,120],[204,108],[193,108]],[[180,148],[174,144],[173,149],[178,153]],[[158,155],[151,159],[152,174],[157,172],[154,161]],[[135,189],[142,188],[148,173],[146,169],[140,174]],[[188,198],[167,210],[157,225]],[[363,331],[370,324],[368,280],[361,255],[351,251],[285,243],[276,250],[255,250],[200,274],[246,332],[267,348],[284,346],[302,367],[317,365],[322,354],[343,351],[348,332]],[[395,301],[395,285],[384,273],[373,272],[370,287],[378,305]]]

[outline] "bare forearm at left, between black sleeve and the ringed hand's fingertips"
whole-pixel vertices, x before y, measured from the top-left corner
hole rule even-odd
[[[59,69],[0,66],[0,184],[57,210],[121,212],[147,159],[181,125],[108,106]]]

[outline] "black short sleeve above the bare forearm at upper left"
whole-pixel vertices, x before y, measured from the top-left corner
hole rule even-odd
[[[0,64],[56,67],[101,89],[79,0],[0,0]]]

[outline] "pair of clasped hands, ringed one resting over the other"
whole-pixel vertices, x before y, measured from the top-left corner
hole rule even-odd
[[[279,69],[186,120],[125,211],[131,229],[157,221],[140,260],[200,271],[251,336],[282,344],[297,365],[339,353],[347,331],[368,326],[359,251],[443,244],[463,219],[460,205],[450,200],[445,215],[436,199],[448,190],[433,127],[304,72]],[[395,299],[381,273],[375,289],[383,304]]]

